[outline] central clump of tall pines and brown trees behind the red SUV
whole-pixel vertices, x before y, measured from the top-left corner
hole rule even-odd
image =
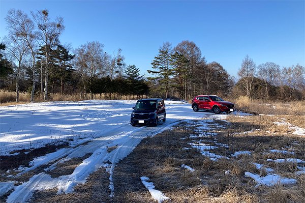
[[[165,42],[151,63],[148,77],[155,93],[163,97],[191,99],[198,94],[227,96],[233,88],[233,78],[217,62],[207,63],[200,48],[191,41],[182,41],[172,48]]]

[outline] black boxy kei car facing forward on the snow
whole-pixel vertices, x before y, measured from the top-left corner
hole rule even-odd
[[[163,99],[138,100],[131,113],[130,124],[158,126],[162,120],[166,120],[165,105]]]

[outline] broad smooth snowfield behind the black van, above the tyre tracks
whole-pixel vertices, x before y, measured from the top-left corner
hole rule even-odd
[[[135,128],[129,125],[129,121],[135,103],[136,100],[87,100],[2,106],[0,155],[40,148],[60,140],[79,144],[114,132],[133,131]],[[191,105],[184,102],[165,103],[166,125],[213,114],[194,112]]]

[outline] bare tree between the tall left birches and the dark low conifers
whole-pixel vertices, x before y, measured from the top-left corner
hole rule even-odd
[[[104,45],[100,42],[88,42],[75,50],[74,65],[81,76],[85,99],[88,86],[90,98],[93,99],[90,88],[94,77],[104,76],[105,74],[103,47]]]

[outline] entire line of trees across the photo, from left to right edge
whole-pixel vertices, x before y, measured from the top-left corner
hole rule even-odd
[[[64,19],[50,19],[48,10],[11,9],[6,18],[9,35],[0,44],[0,89],[28,92],[48,100],[50,93],[80,94],[93,99],[105,94],[118,97],[162,97],[190,100],[196,95],[247,96],[263,100],[305,99],[305,68],[299,64],[281,68],[273,62],[256,66],[246,55],[237,80],[218,62],[207,63],[192,41],[175,47],[164,42],[151,57],[149,77],[135,65],[126,65],[121,49],[104,51],[98,41],[76,49],[59,41]],[[73,52],[73,53],[71,53]]]

